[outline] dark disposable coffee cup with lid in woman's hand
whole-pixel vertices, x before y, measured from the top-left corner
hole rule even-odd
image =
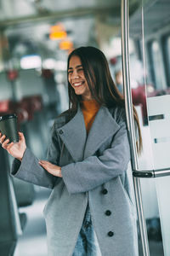
[[[6,135],[10,143],[17,143],[19,141],[17,116],[15,113],[0,116],[0,131],[3,135]]]

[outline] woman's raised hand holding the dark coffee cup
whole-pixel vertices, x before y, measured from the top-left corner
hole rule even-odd
[[[26,151],[26,140],[22,132],[19,132],[18,143],[9,143],[9,139],[6,139],[6,136],[0,132],[0,143],[2,147],[8,151],[8,154],[11,154],[20,161],[22,160]]]

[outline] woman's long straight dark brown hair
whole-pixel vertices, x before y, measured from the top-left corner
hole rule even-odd
[[[107,108],[120,106],[125,108],[125,101],[122,95],[116,88],[116,85],[111,78],[111,72],[108,62],[103,52],[95,47],[80,47],[74,49],[68,57],[67,71],[72,56],[78,56],[82,62],[84,76],[87,80],[89,90],[93,98]],[[78,102],[82,100],[81,96],[77,96],[75,90],[71,87],[68,80],[69,94],[69,113],[74,115],[77,113]],[[137,142],[138,152],[142,149],[142,138],[139,127],[139,118],[136,109],[133,107],[133,116],[138,126],[139,139]]]

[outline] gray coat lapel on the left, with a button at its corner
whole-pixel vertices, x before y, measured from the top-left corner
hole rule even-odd
[[[83,159],[87,132],[80,106],[77,113],[68,123],[57,129],[59,137],[65,143],[65,147],[71,154],[72,159],[77,162]]]

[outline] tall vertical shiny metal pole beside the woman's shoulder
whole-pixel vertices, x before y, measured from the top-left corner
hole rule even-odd
[[[137,148],[136,148],[136,137],[133,121],[133,101],[130,88],[130,73],[129,73],[129,55],[128,55],[128,0],[122,0],[122,74],[123,74],[123,85],[124,85],[124,96],[125,96],[125,108],[127,115],[127,129],[129,134],[132,166],[133,170],[139,170]],[[150,256],[148,236],[144,218],[144,209],[142,203],[142,195],[140,188],[140,181],[138,177],[133,177],[134,194],[136,198],[136,206],[139,218],[139,229],[142,240],[143,254],[144,256]]]

